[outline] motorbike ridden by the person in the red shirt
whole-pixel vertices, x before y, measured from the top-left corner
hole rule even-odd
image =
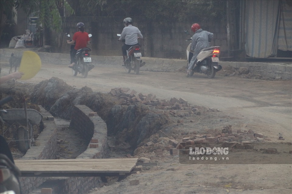
[[[66,33],[66,36],[70,37],[70,34]],[[92,34],[88,35],[89,38],[92,37]],[[70,39],[70,41],[72,41]],[[71,45],[71,50],[74,49],[75,45]],[[77,76],[78,73],[81,73],[83,78],[86,78],[88,75],[88,72],[93,69],[94,65],[91,64],[91,57],[90,52],[91,49],[88,47],[78,49],[75,58],[76,58],[76,64],[72,68],[73,76]]]

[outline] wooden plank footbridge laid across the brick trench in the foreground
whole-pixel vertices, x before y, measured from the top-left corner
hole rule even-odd
[[[101,176],[130,173],[138,158],[15,160],[22,176]]]

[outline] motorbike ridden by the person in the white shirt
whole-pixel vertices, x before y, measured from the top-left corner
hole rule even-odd
[[[121,36],[120,34],[116,34],[117,36]],[[125,40],[123,39],[122,42],[124,43]],[[134,70],[134,73],[137,75],[139,74],[140,67],[145,65],[145,62],[142,63],[141,60],[141,46],[140,45],[133,45],[127,50],[127,63],[124,66],[126,72],[130,73],[131,70]]]

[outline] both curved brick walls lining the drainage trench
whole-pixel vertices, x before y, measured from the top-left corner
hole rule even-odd
[[[30,148],[22,159],[55,159],[57,153],[57,132],[54,121],[48,121],[46,118],[51,116],[43,107],[44,130],[36,139],[36,145]],[[93,112],[85,105],[75,105],[70,125],[77,128],[79,132],[88,141],[88,148],[77,158],[105,158],[106,156],[106,140],[107,127],[97,114],[89,117],[89,113]],[[91,142],[92,141],[92,142]],[[95,143],[96,142],[96,143]],[[90,144],[95,145],[94,148]],[[30,193],[33,189],[40,186],[47,179],[46,177],[20,177],[23,193]],[[98,187],[100,177],[68,177],[64,181],[62,193],[87,193],[90,189]]]

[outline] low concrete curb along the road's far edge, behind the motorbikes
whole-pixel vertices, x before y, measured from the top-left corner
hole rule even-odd
[[[15,56],[22,56],[23,51],[31,50],[36,51],[36,48],[23,48],[23,49],[0,49],[0,60],[9,61],[11,53]],[[36,52],[42,63],[51,63],[56,65],[68,65],[70,62],[70,55],[63,53],[47,53]],[[122,64],[122,56],[96,56],[92,55],[92,61],[95,66],[120,66]],[[176,72],[181,68],[186,67],[186,60],[180,59],[161,59],[152,57],[142,57],[146,65],[141,67],[143,71],[163,71],[163,72]],[[292,79],[292,62],[287,63],[257,63],[257,62],[224,62],[219,64],[223,67],[233,66],[236,69],[246,67],[250,73],[261,74],[269,78],[282,78],[284,80]]]

